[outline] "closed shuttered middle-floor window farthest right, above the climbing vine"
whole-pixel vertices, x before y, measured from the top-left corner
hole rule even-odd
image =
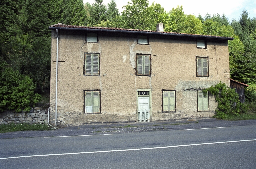
[[[209,77],[207,57],[196,57],[196,76]]]

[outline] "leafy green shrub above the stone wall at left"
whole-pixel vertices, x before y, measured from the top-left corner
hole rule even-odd
[[[0,112],[6,109],[30,111],[30,106],[41,100],[41,95],[34,93],[35,88],[33,79],[0,63]]]

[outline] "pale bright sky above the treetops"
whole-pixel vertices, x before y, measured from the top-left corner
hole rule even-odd
[[[122,6],[127,5],[131,0],[116,0],[119,13],[123,11]],[[94,0],[83,0],[84,3],[94,3]],[[110,0],[103,0],[104,4],[108,4]],[[154,0],[149,0],[151,5]],[[239,20],[243,9],[247,10],[249,17],[256,17],[256,0],[215,0],[215,1],[196,1],[196,0],[157,0],[155,3],[160,4],[166,11],[170,11],[172,8],[176,8],[178,5],[183,6],[185,14],[193,14],[198,16],[201,14],[203,17],[206,13],[211,16],[215,13],[227,15],[229,21],[232,19]]]

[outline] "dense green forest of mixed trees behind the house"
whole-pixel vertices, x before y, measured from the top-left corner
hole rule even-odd
[[[131,0],[119,13],[116,3],[103,0],[1,0],[0,111],[29,110],[49,97],[51,30],[57,24],[156,30],[234,37],[229,41],[230,76],[249,84],[246,101],[256,100],[256,18],[243,10],[231,22],[225,14],[186,15],[182,6],[167,12],[160,4]],[[48,94],[48,95],[47,95]]]

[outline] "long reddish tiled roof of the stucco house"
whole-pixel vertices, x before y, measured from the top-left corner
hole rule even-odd
[[[187,33],[176,33],[176,32],[159,32],[159,31],[124,29],[124,28],[88,27],[88,26],[75,26],[75,25],[64,25],[64,24],[51,25],[49,26],[49,29],[155,34],[155,35],[170,35],[170,36],[179,36],[179,37],[194,37],[194,38],[218,39],[218,40],[234,39],[232,37],[211,36],[211,35],[198,35],[198,34],[187,34]]]

